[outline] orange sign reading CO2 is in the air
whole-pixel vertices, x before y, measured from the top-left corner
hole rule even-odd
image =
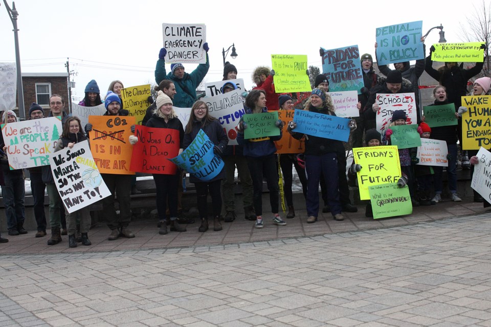
[[[129,143],[135,117],[89,116],[92,124],[91,151],[102,174],[133,175],[130,170],[133,146]]]

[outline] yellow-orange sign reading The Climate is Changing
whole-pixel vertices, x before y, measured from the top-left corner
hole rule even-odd
[[[150,105],[148,97],[151,96],[150,84],[126,87],[121,90],[121,108],[135,116],[137,124],[141,124],[147,108]]]

